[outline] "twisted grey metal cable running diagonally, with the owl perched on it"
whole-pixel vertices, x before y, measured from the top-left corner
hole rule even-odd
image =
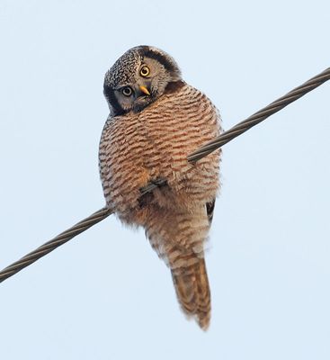
[[[280,99],[270,103],[259,112],[255,112],[244,121],[237,123],[233,128],[223,132],[216,139],[213,139],[201,148],[198,148],[188,156],[188,161],[193,163],[200,160],[202,157],[206,157],[212,151],[215,151],[217,148],[221,148],[223,145],[227,144],[227,142],[235,139],[237,136],[243,134],[246,130],[251,129],[259,122],[267,119],[273,113],[279,112],[285,106],[298,100],[299,97],[303,96],[304,94],[308,94],[310,91],[314,90],[317,86],[322,85],[329,79],[330,67],[317,76],[312,77],[306,83],[291,90],[290,93],[285,94],[284,96],[280,97]],[[159,182],[157,184],[148,184],[145,188],[143,188],[141,194],[149,193],[160,185],[162,184]],[[76,235],[84,232],[86,229],[91,228],[94,224],[104,220],[110,216],[112,212],[113,211],[107,207],[94,212],[85,220],[79,221],[72,228],[61,232],[57,237],[52,238],[44,245],[41,245],[25,257],[22,257],[20,260],[14,262],[12,265],[5,267],[4,270],[0,272],[0,283],[2,283],[8,277],[18,273],[24,267],[30,266],[32,263],[40,259],[40,257],[44,257],[45,255],[49,254],[49,252],[55,250],[55,248],[65,244],[71,238],[75,238]]]

